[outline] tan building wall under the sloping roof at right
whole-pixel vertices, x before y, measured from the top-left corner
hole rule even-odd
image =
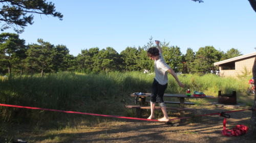
[[[245,68],[248,72],[250,72],[250,75],[252,75],[252,66],[254,64],[254,59],[255,57],[237,61],[235,63],[234,70],[222,70],[222,67],[220,67],[220,75],[237,77],[238,75],[243,75],[243,73],[245,72]]]

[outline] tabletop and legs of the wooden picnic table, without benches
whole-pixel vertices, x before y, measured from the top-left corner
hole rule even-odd
[[[136,94],[130,94],[129,96],[131,97],[138,97],[139,98],[139,103],[140,103],[140,106],[144,106],[145,105],[145,99],[146,97],[151,97],[151,93],[143,93],[142,95],[136,95]],[[187,96],[185,94],[164,94],[164,97],[176,97],[176,98],[179,98],[180,99],[180,117],[185,117],[185,98],[206,98],[206,99],[216,99],[217,97],[214,97],[214,96]],[[184,109],[184,110],[182,110]],[[184,122],[185,119],[181,120],[181,122]]]

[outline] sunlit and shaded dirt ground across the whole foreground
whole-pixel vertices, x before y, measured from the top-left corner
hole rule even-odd
[[[223,106],[211,104],[206,108],[198,109],[196,112],[187,114],[186,117],[195,115],[205,115],[221,111],[230,111],[237,109],[247,109],[244,106]],[[227,129],[232,129],[236,125],[250,126],[251,111],[230,112],[230,119],[227,119]],[[169,115],[170,119],[176,119],[176,115]],[[102,117],[103,118],[103,117]],[[224,117],[218,115],[199,116],[186,119],[185,123],[180,120],[173,120],[173,123],[180,123],[177,127],[165,125],[163,122],[110,119],[108,122],[102,122],[97,126],[78,126],[75,131],[54,133],[41,136],[34,133],[19,131],[19,136],[29,142],[256,142],[248,139],[248,134],[241,136],[224,136],[223,130]],[[46,131],[47,132],[47,131]],[[32,135],[33,134],[33,135]],[[32,135],[32,136],[31,136]],[[68,140],[65,140],[68,136]],[[0,137],[1,138],[1,137]],[[50,138],[50,139],[48,139]],[[54,140],[55,138],[55,140]],[[59,138],[60,141],[56,141]],[[33,140],[33,141],[31,141]],[[1,142],[1,141],[0,141]]]

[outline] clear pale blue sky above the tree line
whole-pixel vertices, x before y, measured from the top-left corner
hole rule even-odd
[[[49,2],[49,1],[48,1]],[[66,45],[70,54],[82,49],[113,47],[118,53],[127,46],[144,46],[153,40],[170,42],[198,51],[214,46],[226,52],[236,48],[255,52],[256,13],[247,0],[52,0],[63,20],[34,15],[34,24],[20,34],[27,43],[44,39]],[[9,31],[8,31],[9,32]]]

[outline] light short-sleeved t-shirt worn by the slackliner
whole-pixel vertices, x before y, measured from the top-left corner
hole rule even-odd
[[[155,64],[155,79],[159,84],[165,85],[168,82],[168,72],[170,67],[165,63],[162,53],[159,53],[160,58],[154,61]]]

